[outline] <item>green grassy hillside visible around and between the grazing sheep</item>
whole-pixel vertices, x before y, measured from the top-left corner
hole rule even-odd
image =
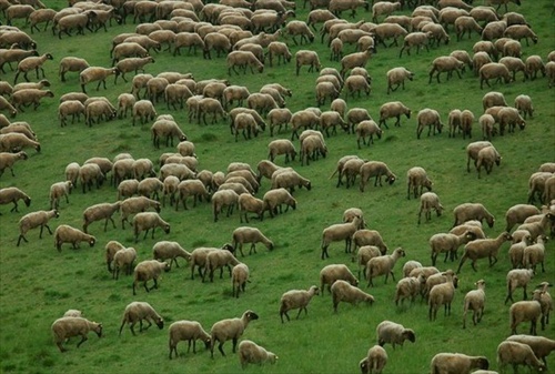
[[[305,20],[307,9],[299,7],[296,18]],[[482,1],[475,1],[482,3]],[[44,0],[44,3],[59,10],[61,1]],[[544,61],[547,53],[555,49],[555,29],[553,28],[552,1],[523,1],[522,7],[514,3],[509,10],[522,12],[538,34],[537,44],[526,46],[523,40],[523,59],[539,54]],[[404,10],[402,13],[410,13]],[[344,14],[347,16],[346,13]],[[371,12],[359,11],[355,20],[370,21]],[[351,20],[351,19],[350,19]],[[3,19],[2,19],[3,21]],[[30,32],[22,20],[16,26]],[[112,26],[108,32],[85,32],[84,36],[62,36],[59,40],[50,30],[34,32],[32,38],[38,43],[40,53],[50,52],[53,61],[44,65],[46,78],[52,83],[54,99],[44,99],[37,111],[31,108],[19,113],[17,121],[28,121],[41,142],[41,152],[27,150],[29,160],[14,165],[16,176],[9,171],[0,176],[0,188],[18,186],[31,198],[31,206],[19,204],[19,213],[11,213],[11,205],[3,205],[0,215],[0,371],[2,373],[238,373],[242,372],[238,358],[231,354],[231,342],[224,345],[226,357],[218,352],[210,358],[210,352],[203,347],[198,353],[186,353],[185,343],[179,345],[180,357],[168,360],[168,326],[179,320],[201,322],[205,330],[219,320],[240,316],[250,309],[260,315],[252,322],[243,337],[253,340],[279,355],[275,365],[248,367],[248,372],[256,373],[347,373],[357,372],[357,364],[366,355],[369,347],[375,344],[375,326],[383,320],[391,320],[411,327],[416,333],[416,342],[407,343],[395,351],[387,345],[389,363],[386,373],[425,373],[430,371],[431,358],[440,352],[460,352],[470,355],[485,355],[493,370],[497,345],[509,335],[508,307],[504,305],[506,295],[505,275],[511,269],[507,251],[508,244],[503,244],[500,261],[487,266],[487,261],[478,261],[477,272],[466,263],[460,276],[460,287],[456,290],[451,316],[445,317],[440,311],[437,320],[430,322],[427,305],[417,301],[414,305],[396,307],[393,297],[395,283],[390,280],[375,281],[375,286],[366,287],[361,282],[361,289],[374,295],[376,302],[372,305],[340,304],[339,313],[332,310],[331,297],[316,296],[309,306],[309,314],[299,321],[282,324],[279,317],[279,302],[283,292],[292,289],[307,289],[319,284],[320,270],[327,264],[345,263],[353,272],[356,265],[351,262],[351,255],[343,251],[343,243],[332,243],[330,259],[320,259],[320,242],[322,230],[330,224],[339,223],[345,209],[357,206],[365,213],[369,228],[379,230],[390,247],[403,247],[406,256],[395,266],[395,279],[401,275],[402,265],[408,260],[416,260],[424,265],[431,265],[428,239],[435,233],[447,232],[453,225],[452,210],[464,202],[481,202],[496,218],[493,229],[485,228],[488,236],[496,236],[505,228],[506,210],[517,203],[526,203],[527,182],[529,175],[544,162],[555,161],[555,105],[554,91],[547,88],[547,80],[538,78],[535,81],[523,81],[522,73],[516,81],[504,84],[492,84],[492,90],[505,94],[507,102],[513,103],[516,95],[524,93],[532,97],[535,115],[527,121],[526,129],[504,137],[494,138],[493,143],[503,156],[501,166],[495,166],[488,175],[472,170],[466,172],[465,148],[471,141],[482,140],[477,123],[474,124],[472,140],[463,140],[457,135],[450,139],[446,131],[435,137],[417,140],[416,113],[424,108],[437,110],[447,122],[452,109],[470,109],[476,119],[482,114],[482,97],[486,89],[480,89],[480,80],[466,71],[462,79],[454,77],[450,81],[442,77],[442,83],[427,83],[427,74],[434,58],[446,55],[456,49],[471,52],[472,46],[478,40],[477,34],[471,39],[456,41],[453,30],[450,30],[451,43],[431,48],[420,54],[398,58],[400,48],[384,49],[379,47],[372,57],[367,70],[373,78],[372,93],[369,98],[347,98],[349,108],[366,108],[374,119],[379,118],[380,107],[389,101],[398,100],[413,111],[411,119],[403,118],[402,125],[390,125],[384,137],[370,146],[361,150],[352,134],[339,132],[326,139],[329,155],[301,166],[295,160],[291,166],[312,181],[312,190],[297,190],[294,196],[297,209],[289,211],[274,219],[266,218],[262,222],[251,221],[251,225],[262,230],[274,243],[275,249],[268,252],[260,246],[256,254],[246,255],[244,261],[251,271],[251,283],[246,292],[239,299],[232,297],[231,281],[225,274],[223,280],[215,279],[213,283],[201,283],[195,277],[190,279],[190,270],[180,260],[181,266],[164,274],[159,290],[145,293],[138,290],[132,295],[132,279],[120,276],[114,281],[107,272],[104,263],[104,245],[110,240],[117,240],[127,246],[133,246],[138,252],[138,261],[152,257],[152,245],[159,240],[180,242],[183,247],[192,251],[199,246],[221,246],[231,241],[231,232],[240,225],[238,214],[222,216],[213,222],[211,205],[201,203],[194,209],[178,212],[171,206],[161,211],[161,216],[171,224],[171,233],[163,234],[157,230],[154,240],[147,237],[134,243],[132,230],[122,230],[109,225],[103,232],[100,222],[93,223],[89,232],[95,235],[94,247],[82,245],[72,250],[69,245],[59,253],[53,245],[53,237],[44,232],[39,240],[39,230],[27,234],[29,243],[16,246],[22,215],[48,210],[49,189],[54,182],[64,180],[64,169],[70,162],[82,164],[92,156],[113,159],[118,153],[129,152],[134,159],[148,158],[158,164],[163,152],[173,152],[173,148],[152,145],[150,125],[131,125],[131,119],[113,120],[85,127],[83,122],[61,128],[57,109],[58,98],[70,91],[80,91],[75,73],[68,74],[68,81],[61,82],[58,75],[58,63],[67,55],[84,58],[91,65],[108,67],[111,63],[109,50],[111,40],[121,32],[134,30],[131,17],[127,24]],[[292,40],[284,39],[294,52],[299,49],[313,49],[319,52],[324,67],[340,68],[339,62],[330,61],[329,49],[320,42],[320,36],[312,44],[294,46]],[[346,47],[347,52],[354,47]],[[285,65],[266,67],[263,73],[228,75],[225,58],[204,60],[202,53],[196,55],[182,51],[182,55],[173,57],[168,51],[154,53],[155,63],[147,67],[147,72],[157,74],[163,71],[191,72],[196,80],[209,78],[229,79],[231,84],[242,84],[251,92],[258,91],[263,84],[279,82],[293,91],[287,98],[286,107],[292,111],[314,107],[314,81],[316,73],[307,73],[303,68],[295,75],[294,61]],[[415,73],[415,79],[406,83],[406,89],[386,94],[385,72],[393,67],[405,67]],[[1,79],[12,83],[14,71],[4,67],[7,73]],[[34,75],[32,73],[30,77]],[[21,78],[20,78],[21,81]],[[113,103],[122,92],[129,92],[131,83],[121,80],[114,85],[108,80],[108,89],[94,91],[89,87],[90,95],[105,95]],[[344,94],[342,94],[344,98]],[[329,103],[322,105],[327,110]],[[253,168],[268,156],[266,145],[270,134],[245,141],[240,138],[235,142],[230,134],[228,122],[201,125],[189,122],[183,110],[167,110],[164,103],[157,105],[159,114],[170,113],[190,141],[194,142],[200,169],[225,171],[233,161],[248,162]],[[446,128],[445,128],[446,129]],[[273,139],[290,138],[290,131],[274,134]],[[295,142],[297,145],[297,142]],[[364,193],[359,189],[335,188],[336,181],[330,179],[337,160],[346,154],[357,154],[369,160],[380,160],[389,164],[397,175],[393,185],[374,188],[369,185]],[[282,158],[276,163],[284,165]],[[445,214],[432,216],[431,222],[416,224],[418,201],[406,199],[406,171],[415,165],[423,166],[434,182],[436,192]],[[263,181],[258,196],[261,198],[270,188],[268,180]],[[69,204],[61,202],[60,218],[51,221],[52,232],[60,224],[75,228],[82,226],[82,212],[85,208],[100,202],[113,202],[117,190],[110,183],[104,183],[99,190],[82,193],[81,185],[70,195]],[[268,215],[266,215],[268,216]],[[536,274],[534,284],[542,281],[554,282],[555,246],[547,244],[545,273]],[[437,263],[438,269],[456,270],[458,263]],[[474,289],[474,282],[484,279],[486,285],[486,311],[483,321],[477,326],[472,323],[462,330],[463,299],[466,292]],[[531,290],[528,290],[531,293]],[[522,291],[516,292],[515,300],[521,300]],[[118,336],[121,316],[125,306],[132,301],[147,301],[163,316],[164,331],[155,327],[132,336],[124,328]],[[97,338],[90,334],[89,341],[75,348],[77,338],[67,344],[69,352],[60,354],[52,342],[50,326],[68,309],[79,309],[90,320],[102,322],[104,334]],[[290,313],[295,315],[295,312]],[[555,324],[552,322],[544,331],[538,327],[538,334],[555,337]],[[527,332],[528,323],[519,326],[518,332]],[[548,366],[555,367],[555,356],[548,357]]]

